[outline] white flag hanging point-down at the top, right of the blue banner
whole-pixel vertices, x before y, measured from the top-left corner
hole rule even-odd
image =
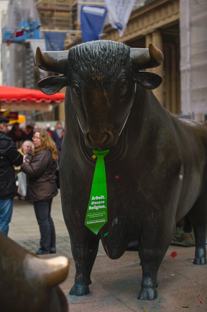
[[[118,29],[122,37],[136,0],[105,0],[112,27]]]

